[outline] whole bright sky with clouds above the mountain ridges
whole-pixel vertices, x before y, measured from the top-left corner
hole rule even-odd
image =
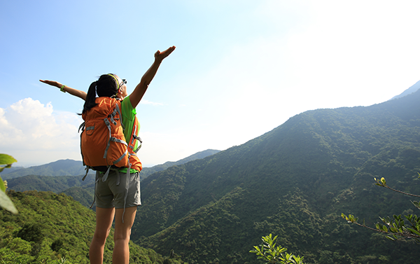
[[[144,166],[225,150],[307,110],[369,106],[420,80],[419,1],[1,1],[0,153],[80,160],[97,76],[139,83],[176,46],[137,113]]]

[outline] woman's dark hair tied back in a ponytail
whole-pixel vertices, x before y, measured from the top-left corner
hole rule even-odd
[[[86,113],[92,109],[92,107],[97,105],[97,103],[94,102],[97,95],[98,97],[113,97],[117,93],[118,83],[116,82],[116,76],[114,74],[104,74],[100,76],[98,81],[91,83],[89,90],[87,90],[82,114]]]

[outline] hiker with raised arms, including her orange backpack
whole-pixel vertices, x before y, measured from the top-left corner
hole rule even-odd
[[[92,264],[103,263],[106,237],[111,230],[114,216],[115,246],[112,263],[127,264],[130,261],[131,228],[136,216],[137,206],[141,204],[139,177],[141,162],[135,151],[139,145],[137,134],[139,123],[136,117],[136,106],[146,92],[149,83],[153,80],[162,60],[174,50],[175,46],[172,46],[165,51],[160,52],[158,50],[155,53],[155,61],[152,66],[146,71],[140,83],[128,97],[127,81],[116,74],[100,76],[97,81],[90,85],[87,93],[62,85],[57,81],[39,80],[59,88],[62,92],[69,92],[69,94],[85,100],[82,111],[85,125],[80,135],[83,162],[88,167],[97,170],[94,191],[94,199],[97,204],[96,228],[89,249],[89,258]],[[97,121],[102,114],[105,118],[100,119],[100,122]],[[104,121],[104,119],[109,121]],[[120,123],[121,120],[122,123]],[[102,123],[105,123],[105,125],[102,125]],[[97,133],[102,132],[101,126],[105,127],[106,137],[108,137],[108,134],[110,137],[102,140],[104,146],[98,147],[102,150],[92,149],[91,146],[83,148],[83,144],[91,142],[90,137],[99,137]],[[123,130],[124,128],[125,130]],[[106,144],[108,145],[105,147]],[[105,154],[103,148],[106,148]],[[123,149],[121,152],[123,154],[118,153],[119,158],[109,158],[112,153],[116,153],[120,149]],[[89,152],[89,150],[91,151]],[[100,155],[101,157],[92,157],[92,155]],[[109,160],[113,160],[113,163],[110,164]],[[121,166],[122,164],[123,166]]]

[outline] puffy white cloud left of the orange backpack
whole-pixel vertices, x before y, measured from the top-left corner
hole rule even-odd
[[[22,99],[0,109],[0,149],[13,155],[18,165],[38,165],[59,159],[80,160],[75,113],[54,112],[52,104]]]

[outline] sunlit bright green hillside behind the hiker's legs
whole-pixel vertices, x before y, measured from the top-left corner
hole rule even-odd
[[[73,198],[52,192],[15,192],[19,214],[0,208],[0,263],[89,263],[95,226],[94,212]],[[104,263],[111,263],[113,229],[105,246]],[[169,255],[169,252],[167,253]],[[130,263],[164,263],[151,249],[130,242]],[[180,263],[167,260],[166,263]]]

